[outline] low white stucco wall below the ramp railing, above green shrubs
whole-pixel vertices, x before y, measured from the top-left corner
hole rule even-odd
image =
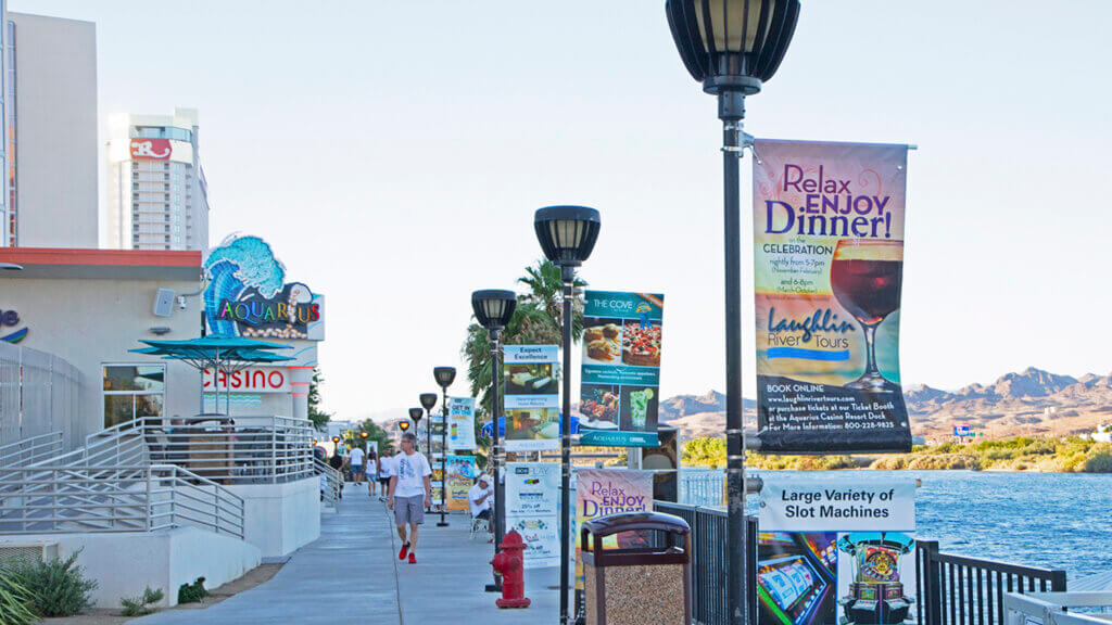
[[[97,607],[120,607],[123,597],[142,595],[143,588],[161,588],[161,606],[178,603],[178,588],[205,577],[215,588],[237,579],[261,562],[258,547],[196,527],[121,534],[38,534],[0,536],[0,545],[58,543],[58,557],[80,550],[78,565],[86,577],[97,581],[92,601]]]

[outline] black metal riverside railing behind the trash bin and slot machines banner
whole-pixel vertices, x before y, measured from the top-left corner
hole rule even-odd
[[[678,516],[692,528],[692,616],[701,625],[727,625],[726,512],[721,507],[654,502],[656,512]],[[749,622],[757,622],[757,520],[748,517],[746,567]],[[916,625],[1004,625],[1004,594],[1064,592],[1065,572],[971,558],[916,540]]]

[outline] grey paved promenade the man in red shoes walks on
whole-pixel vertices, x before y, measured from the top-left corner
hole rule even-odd
[[[439,623],[555,623],[558,593],[555,568],[526,572],[524,611],[498,609],[483,592],[490,581],[492,545],[467,537],[464,515],[426,517],[417,564],[399,562],[400,547],[386,504],[348,485],[336,514],[320,519],[320,538],[301,547],[269,582],[205,609],[167,611],[130,623],[142,625],[235,623],[378,625]]]

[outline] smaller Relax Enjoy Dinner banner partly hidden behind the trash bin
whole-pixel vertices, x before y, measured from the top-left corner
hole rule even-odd
[[[653,472],[628,469],[578,469],[575,485],[575,587],[583,589],[579,530],[583,524],[618,513],[653,509]],[[619,547],[625,534],[608,536],[603,547]]]

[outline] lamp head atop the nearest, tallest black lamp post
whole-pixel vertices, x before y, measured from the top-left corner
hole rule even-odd
[[[707,93],[761,91],[795,34],[800,0],[666,0],[679,58]]]

